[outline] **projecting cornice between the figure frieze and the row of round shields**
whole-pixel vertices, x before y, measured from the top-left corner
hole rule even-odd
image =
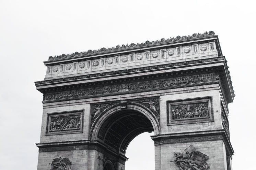
[[[224,64],[223,71],[226,72],[227,76],[228,76],[227,77],[228,80],[226,80],[226,83],[228,83],[229,85],[227,85],[227,88],[230,88],[230,90],[228,89],[225,91],[227,91],[227,93],[228,93],[228,91],[231,92],[232,100],[230,100],[229,102],[232,102],[235,95],[234,95],[232,81],[231,81],[231,77],[229,75],[228,66],[226,65],[226,62],[227,62],[227,60],[225,59],[224,56],[222,56],[222,57],[214,57],[214,58],[207,58],[207,59],[199,59],[199,60],[175,62],[175,63],[169,63],[169,64],[163,64],[163,65],[134,68],[134,69],[129,69],[129,71],[117,70],[117,71],[110,71],[110,72],[80,75],[80,76],[71,76],[71,77],[65,77],[65,78],[60,78],[60,79],[38,81],[38,82],[35,82],[35,85],[41,93],[49,93],[49,91],[54,91],[56,88],[58,90],[62,87],[61,86],[52,87],[53,89],[50,89],[51,87],[48,87],[48,90],[47,90],[47,89],[44,89],[44,86],[49,86],[49,85],[51,86],[51,85],[56,85],[56,84],[65,85],[67,83],[90,81],[90,80],[101,81],[101,79],[105,79],[105,78],[109,78],[109,77],[118,77],[118,76],[126,76],[126,75],[139,74],[139,73],[148,73],[148,72],[152,72],[152,71],[171,70],[171,69],[186,68],[186,67],[191,67],[191,66],[203,66],[203,65],[215,64],[215,63],[223,63]],[[221,74],[221,76],[223,76],[224,74]],[[224,79],[222,78],[222,80],[225,80],[225,78]],[[95,81],[94,81],[94,83],[95,83]],[[226,83],[224,82],[223,84],[226,84]],[[89,85],[90,85],[90,83],[89,83]],[[83,85],[81,85],[81,87],[82,86]],[[85,85],[85,87],[86,87],[86,85]],[[72,86],[69,86],[69,89],[72,89]]]

